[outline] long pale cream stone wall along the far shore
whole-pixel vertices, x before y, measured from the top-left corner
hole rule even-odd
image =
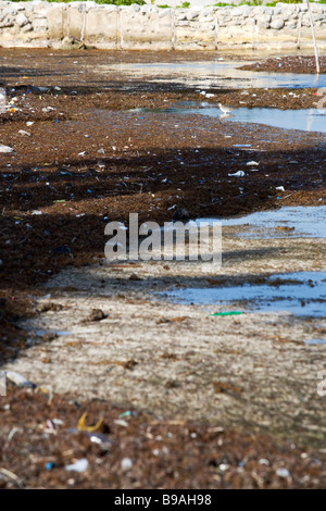
[[[167,1],[168,3],[168,1]],[[318,47],[326,47],[326,4],[312,3]],[[312,47],[305,3],[268,7],[101,5],[0,0],[0,46],[60,48],[75,38],[106,49]]]

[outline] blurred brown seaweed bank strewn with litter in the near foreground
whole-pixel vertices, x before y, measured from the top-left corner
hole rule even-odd
[[[106,433],[78,431],[85,412]],[[1,488],[325,487],[323,454],[264,435],[26,390],[9,389],[0,413]],[[84,472],[65,469],[80,459]]]

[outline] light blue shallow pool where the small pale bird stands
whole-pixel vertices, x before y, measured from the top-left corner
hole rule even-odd
[[[244,97],[246,98],[246,97]],[[271,108],[238,108],[230,114],[223,114],[218,107],[205,102],[184,102],[175,108],[162,110],[174,114],[200,114],[209,117],[259,123],[285,129],[303,129],[326,133],[326,109],[280,110]]]

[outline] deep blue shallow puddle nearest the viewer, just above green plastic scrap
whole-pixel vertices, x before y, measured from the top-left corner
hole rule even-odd
[[[326,272],[276,274],[268,278],[267,284],[244,283],[233,287],[174,289],[164,296],[177,303],[214,304],[218,311],[226,306],[233,307],[233,302],[241,302],[241,308],[237,306],[237,310],[243,312],[289,312],[294,315],[324,317]]]

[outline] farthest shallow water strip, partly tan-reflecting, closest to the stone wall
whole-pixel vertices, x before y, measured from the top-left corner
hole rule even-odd
[[[246,62],[249,64],[249,62]],[[214,59],[206,62],[120,63],[101,66],[101,73],[121,73],[126,78],[179,84],[200,88],[308,88],[326,87],[326,74],[266,73],[239,70],[243,62]]]

